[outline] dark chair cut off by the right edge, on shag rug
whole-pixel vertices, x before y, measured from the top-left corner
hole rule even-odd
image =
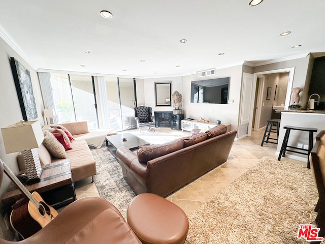
[[[325,131],[320,131],[316,136],[316,143],[313,146],[310,156],[310,164],[313,169],[319,199],[315,207],[317,213],[316,224],[320,228],[318,237],[325,235]],[[311,243],[320,243],[312,241]]]

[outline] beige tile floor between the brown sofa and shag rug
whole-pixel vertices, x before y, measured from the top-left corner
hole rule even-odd
[[[258,160],[264,156],[277,158],[275,155],[276,144],[264,143],[263,147],[261,146],[263,133],[262,130],[253,131],[250,137],[235,140],[231,149],[231,155],[236,156],[235,158],[168,196],[167,199],[181,207],[189,215],[202,203],[256,165]],[[307,163],[288,158],[285,160],[307,165]],[[96,186],[91,183],[90,178],[77,182],[75,187],[77,199],[85,196],[99,196]]]

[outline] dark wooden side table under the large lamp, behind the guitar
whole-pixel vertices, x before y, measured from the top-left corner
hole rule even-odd
[[[25,185],[29,192],[37,191],[47,204],[56,209],[76,200],[69,159],[43,165],[42,168],[40,182]],[[12,183],[1,201],[4,206],[11,206],[23,196]]]

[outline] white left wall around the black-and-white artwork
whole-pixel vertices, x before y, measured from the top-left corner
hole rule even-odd
[[[16,58],[26,69],[29,70],[37,112],[39,115],[38,120],[40,120],[41,125],[44,125],[42,116],[44,106],[36,71],[33,70],[7,43],[0,38],[0,128],[17,123],[22,119],[18,96],[10,67],[10,57]],[[11,170],[14,171],[14,173],[18,173],[18,165],[16,161],[17,154],[18,153],[6,154],[2,134],[0,133],[0,158],[9,166],[9,168],[11,168]],[[9,178],[4,176],[3,184],[0,188],[0,196],[4,194],[9,183]],[[2,217],[4,213],[1,211],[0,214],[0,236],[10,239],[10,233],[6,231],[3,223]]]

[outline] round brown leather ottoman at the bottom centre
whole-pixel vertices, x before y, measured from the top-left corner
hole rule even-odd
[[[188,232],[185,212],[152,193],[136,196],[127,208],[127,223],[142,243],[184,243]]]

